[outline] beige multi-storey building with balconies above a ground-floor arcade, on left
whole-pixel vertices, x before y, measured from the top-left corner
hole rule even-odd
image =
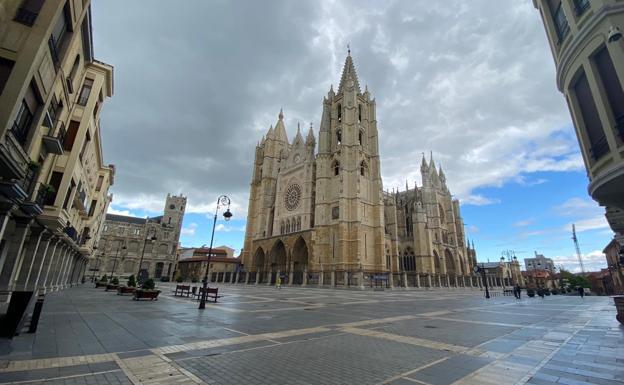
[[[113,68],[93,57],[89,0],[0,1],[0,24],[6,301],[64,288],[84,274],[115,171],[104,164],[100,139]]]

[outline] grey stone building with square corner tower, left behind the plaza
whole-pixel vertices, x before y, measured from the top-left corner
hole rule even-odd
[[[98,249],[89,268],[97,275],[142,275],[171,278],[186,197],[167,195],[164,215],[137,218],[107,214]]]

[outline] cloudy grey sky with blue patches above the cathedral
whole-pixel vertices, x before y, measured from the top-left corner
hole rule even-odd
[[[611,238],[587,177],[530,0],[94,0],[95,54],[115,67],[102,115],[117,166],[111,212],[156,215],[188,197],[181,242],[210,241],[216,197],[243,243],[254,147],[280,108],[292,138],[315,128],[351,46],[377,100],[384,188],[420,185],[433,152],[462,202],[480,260],[538,251],[604,267]]]

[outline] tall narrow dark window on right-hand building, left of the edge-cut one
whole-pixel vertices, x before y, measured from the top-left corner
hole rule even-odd
[[[585,73],[581,73],[573,85],[574,94],[579,104],[580,115],[585,126],[585,132],[589,139],[589,153],[594,160],[600,159],[609,152],[609,144],[602,129],[600,116],[589,88],[589,82]]]

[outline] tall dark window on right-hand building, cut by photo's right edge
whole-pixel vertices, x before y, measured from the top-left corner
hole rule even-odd
[[[615,127],[620,134],[620,138],[624,140],[624,92],[622,91],[622,83],[620,83],[620,79],[615,72],[609,50],[603,46],[594,55],[594,62],[602,81],[602,87],[607,94],[608,104],[611,107],[611,113],[615,120]]]

